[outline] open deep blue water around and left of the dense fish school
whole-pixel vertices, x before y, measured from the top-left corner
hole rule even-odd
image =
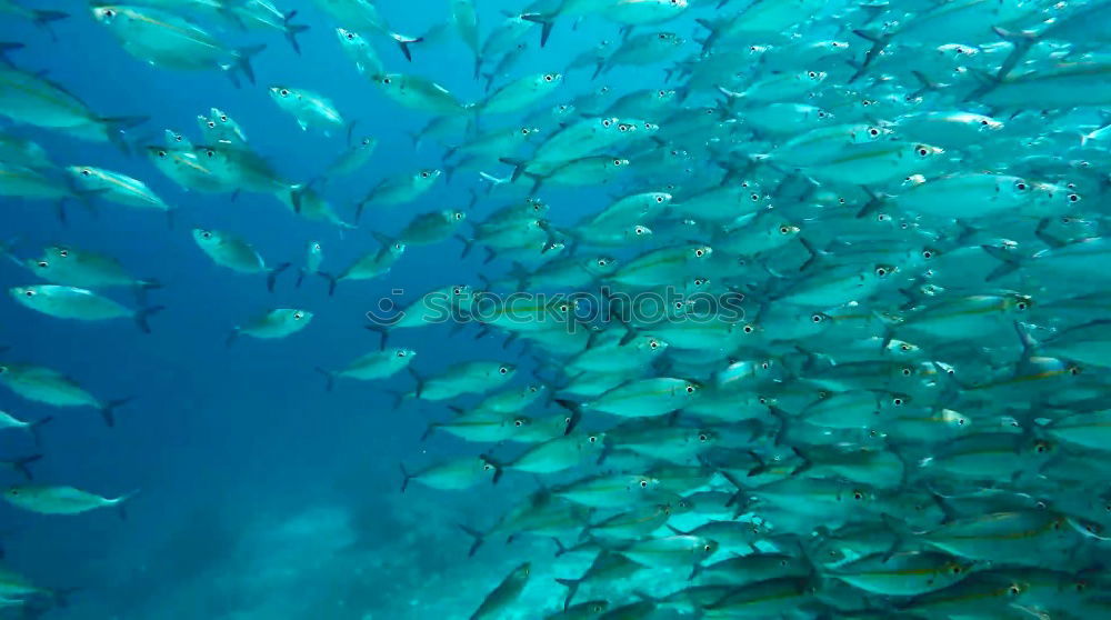
[[[440,0],[380,4],[407,32],[423,32],[447,16]],[[11,54],[13,62],[48,72],[94,110],[149,116],[132,137],[149,133],[150,143],[160,143],[162,129],[172,128],[196,139],[196,116],[217,107],[280,171],[311,178],[342,150],[343,138],[302,132],[267,92],[271,82],[282,82],[331,97],[349,119],[358,119],[356,133],[381,140],[369,167],[328,188],[343,217],[351,217],[351,204],[379,179],[440,163],[439,149],[414,150],[407,137],[428,117],[378,93],[342,53],[332,24],[309,3],[296,7],[298,21],[311,26],[300,38],[300,57],[280,33],[233,33],[242,44],[268,44],[254,61],[258,83],[240,89],[219,72],[143,64],[80,3],[61,8],[73,17],[53,24],[57,40],[43,29],[8,22],[0,23],[0,40],[26,43]],[[509,8],[509,2],[482,2],[483,31]],[[569,54],[583,49],[582,41],[603,34],[615,29],[584,24],[553,38],[542,53],[536,50],[538,33],[532,34],[533,56],[521,67],[559,70]],[[470,52],[457,38],[417,48],[411,66],[398,50],[379,48],[388,68],[432,78],[463,100],[480,96],[470,79]],[[620,79],[615,72],[611,82]],[[569,86],[589,88],[587,76]],[[446,439],[420,442],[427,421],[446,414],[442,408],[391,409],[386,390],[410,389],[409,377],[399,374],[388,386],[341,381],[326,392],[313,370],[338,367],[377,347],[362,326],[363,312],[379,297],[393,288],[419,292],[474,281],[479,257],[457,261],[461,244],[456,241],[410,248],[387,278],[343,283],[334,298],[328,298],[322,279],[311,276],[294,289],[293,270],[271,294],[260,278],[213,264],[189,232],[193,227],[234,231],[268,261],[292,261],[294,269],[303,261],[306,242],[320,240],[324,268],[337,270],[376,247],[371,230],[397,232],[418,212],[464,207],[468,187],[478,187],[473,174],[461,174],[450,186],[441,182],[410,206],[369,209],[358,230],[341,234],[296,217],[269,196],[242,193],[232,200],[184,192],[143,157],[127,157],[110,144],[33,128],[20,133],[43,144],[60,164],[133,176],[180,208],[172,229],[157,212],[114,204],[94,204],[93,214],[71,203],[68,226],[44,202],[4,200],[0,210],[2,236],[19,238],[21,256],[44,243],[69,243],[108,252],[136,276],[164,283],[150,293],[166,310],[152,318],[149,336],[128,321],[60,321],[10,300],[0,303],[0,344],[10,347],[9,359],[62,370],[102,399],[133,398],[109,429],[92,409],[54,409],[0,392],[0,409],[22,419],[56,417],[44,429],[46,457],[33,466],[37,482],[111,497],[140,490],[127,520],[112,510],[43,517],[0,507],[6,562],[36,583],[80,588],[68,607],[47,618],[377,620],[443,617],[437,613],[451,610],[466,616],[480,600],[479,590],[530,553],[529,543],[507,550],[496,544],[467,564],[469,540],[454,526],[491,523],[496,514],[488,507],[498,504],[491,500],[520,494],[512,483],[450,497],[427,489],[399,493],[400,461],[419,466],[463,450]],[[580,199],[605,196],[595,193],[551,192],[554,219],[573,221],[581,214],[574,207]],[[0,280],[4,289],[33,283],[29,272],[9,261],[0,261]],[[272,307],[307,308],[316,319],[283,341],[240,339],[224,347],[232,326]],[[417,368],[424,373],[460,359],[518,354],[502,351],[497,341],[473,340],[473,333],[448,339],[448,327],[439,326],[408,330],[393,341],[420,352]],[[36,450],[19,433],[2,434],[0,442],[0,454]],[[477,567],[483,574],[474,574]],[[468,584],[470,577],[481,577],[478,590]],[[438,600],[448,602],[423,611],[410,607]]]

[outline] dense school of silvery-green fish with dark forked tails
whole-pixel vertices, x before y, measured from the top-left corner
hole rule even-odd
[[[370,239],[361,214],[411,212],[347,266],[319,239],[291,248],[304,253],[291,264],[241,231],[167,229],[229,278],[322,283],[321,306],[341,283],[388,281],[410,247],[481,258],[480,277],[449,272],[389,320],[370,316],[379,348],[316,369],[329,390],[373,381],[383,414],[440,406],[426,439],[470,456],[402,464],[402,492],[537,481],[463,524],[460,562],[519,537],[592,558],[558,579],[562,606],[531,611],[519,599],[551,557],[522,558],[473,594],[471,620],[1111,616],[1111,1],[476,4],[447,0],[442,26],[401,33],[372,0],[316,0],[334,61],[426,119],[413,149],[442,151],[439,168],[382,177],[376,159],[397,153],[377,151],[374,121],[256,76],[267,33],[300,52],[293,7],[94,3],[83,19],[136,61],[264,89],[302,130],[347,146],[297,178],[216,108],[194,131],[140,142],[150,110],[90,109],[9,42],[0,196],[63,221],[78,202],[173,223],[181,197],[268,194],[350,244]],[[16,0],[0,13],[44,29],[78,19]],[[587,40],[580,22],[612,37]],[[579,56],[544,53],[568,40],[584,42]],[[473,101],[421,73],[460,41],[471,56],[444,61],[473,77]],[[521,62],[537,50],[544,66]],[[36,131],[127,149],[189,193],[168,201],[94,162],[54,163]],[[328,197],[344,176],[366,179],[357,204]],[[421,202],[442,183],[453,203]],[[546,198],[568,188],[589,198]],[[28,271],[9,291],[24,311],[157,329],[161,282],[111,256],[4,250]],[[273,308],[228,326],[228,343],[312,319]],[[454,339],[502,341],[503,356],[421,370],[434,352],[407,348],[406,332],[442,322]],[[108,424],[140,404],[16,353],[0,383],[23,399]],[[0,428],[36,438],[49,420],[0,412]],[[30,479],[38,458],[4,464]],[[46,514],[130,498],[3,492]],[[658,586],[630,586],[641,578]],[[0,606],[62,596],[0,571]]]

